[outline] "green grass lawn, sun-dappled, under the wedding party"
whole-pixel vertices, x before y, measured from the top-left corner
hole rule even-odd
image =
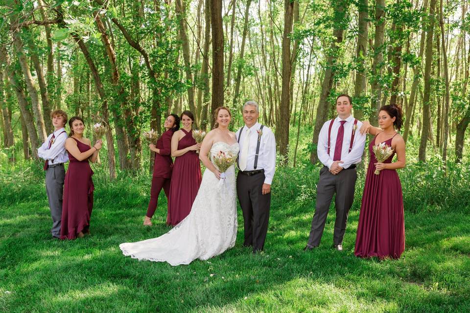
[[[118,247],[169,230],[163,194],[154,226],[144,227],[150,180],[105,181],[95,178],[92,235],[75,241],[51,239],[40,179],[0,187],[1,312],[470,311],[470,217],[465,211],[405,211],[401,259],[359,259],[353,255],[358,180],[345,250],[331,248],[331,210],[322,245],[304,252],[314,197],[305,192],[308,186],[289,198],[273,185],[264,253],[252,255],[242,247],[238,210],[233,249],[209,261],[172,267],[124,257]]]

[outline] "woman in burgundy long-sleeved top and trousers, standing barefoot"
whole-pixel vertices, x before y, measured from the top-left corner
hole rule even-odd
[[[171,171],[173,169],[173,159],[171,158],[171,137],[173,133],[180,129],[180,117],[170,114],[165,119],[165,132],[158,138],[157,145],[149,144],[151,151],[155,152],[155,162],[153,163],[152,187],[150,188],[150,201],[148,202],[147,215],[143,220],[146,226],[152,226],[151,218],[155,213],[158,204],[158,195],[162,188],[166,199],[170,192]]]

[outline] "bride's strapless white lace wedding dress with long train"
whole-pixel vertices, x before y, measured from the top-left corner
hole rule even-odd
[[[218,141],[212,145],[211,160],[219,151],[236,156],[238,150],[238,143],[229,145]],[[220,186],[215,175],[206,170],[191,212],[180,224],[158,238],[120,244],[122,253],[176,266],[195,259],[210,259],[233,247],[237,230],[235,166],[226,174]]]

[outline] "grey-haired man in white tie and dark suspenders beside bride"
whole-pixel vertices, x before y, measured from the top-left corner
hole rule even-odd
[[[259,109],[255,101],[246,102],[242,113],[245,126],[236,133],[240,144],[236,191],[243,211],[243,246],[252,246],[253,253],[257,253],[263,250],[268,231],[276,140],[268,127],[258,123]]]

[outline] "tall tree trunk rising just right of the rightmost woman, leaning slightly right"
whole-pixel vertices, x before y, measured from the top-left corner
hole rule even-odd
[[[434,37],[434,21],[436,15],[436,0],[429,4],[429,24],[426,35],[426,63],[424,65],[424,97],[423,97],[423,130],[419,149],[419,160],[426,161],[426,145],[430,129],[430,97],[431,97],[431,67],[432,67],[432,40]]]

